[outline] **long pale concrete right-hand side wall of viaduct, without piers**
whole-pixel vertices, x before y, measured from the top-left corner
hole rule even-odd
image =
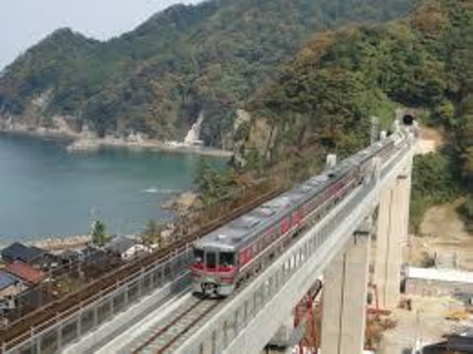
[[[410,159],[412,146],[407,146],[382,166],[378,181],[373,179],[343,200],[218,313],[209,314],[207,323],[177,353],[238,354],[261,350],[261,343],[271,339],[279,323],[290,316],[294,304],[306,294],[312,284],[310,279],[320,276],[333,254],[343,249],[356,227],[378,204],[382,188],[400,174]],[[279,301],[271,301],[275,297]]]

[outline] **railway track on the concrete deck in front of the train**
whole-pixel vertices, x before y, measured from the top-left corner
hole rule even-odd
[[[153,328],[151,333],[146,333],[142,343],[137,343],[127,353],[142,354],[164,354],[172,353],[180,340],[192,331],[208,313],[219,306],[218,300],[197,299],[192,296],[185,306],[159,326]]]

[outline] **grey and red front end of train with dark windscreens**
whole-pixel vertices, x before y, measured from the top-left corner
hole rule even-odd
[[[230,230],[219,229],[194,242],[192,262],[192,291],[209,297],[229,296],[235,289],[237,257],[232,246]]]

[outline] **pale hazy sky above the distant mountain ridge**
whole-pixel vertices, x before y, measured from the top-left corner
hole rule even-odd
[[[130,31],[172,4],[202,0],[6,0],[0,19],[0,70],[56,28],[106,39]]]

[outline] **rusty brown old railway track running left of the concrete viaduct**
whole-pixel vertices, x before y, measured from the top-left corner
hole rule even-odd
[[[71,316],[71,314],[76,313],[83,308],[83,306],[87,306],[102,298],[104,295],[115,291],[115,289],[118,289],[120,286],[123,286],[127,281],[133,279],[134,274],[139,274],[148,267],[154,267],[156,264],[167,261],[172,254],[185,250],[189,243],[192,243],[199,237],[206,235],[208,232],[217,229],[234,218],[237,218],[239,215],[243,215],[257,205],[274,198],[276,195],[282,193],[282,191],[284,190],[281,188],[274,188],[266,193],[262,193],[258,197],[249,200],[248,203],[239,205],[237,208],[230,210],[229,213],[207,222],[207,224],[200,227],[199,230],[181,237],[162,250],[153,252],[141,259],[136,259],[134,262],[130,262],[130,264],[125,264],[114,272],[105,274],[103,277],[83,286],[83,288],[63,296],[61,299],[52,301],[28,313],[28,315],[18,321],[10,323],[9,326],[0,330],[0,348],[9,350],[20,343],[24,343],[30,338],[32,328],[34,328],[35,333],[46,330],[47,328],[52,328],[56,323],[63,320],[63,318]]]

